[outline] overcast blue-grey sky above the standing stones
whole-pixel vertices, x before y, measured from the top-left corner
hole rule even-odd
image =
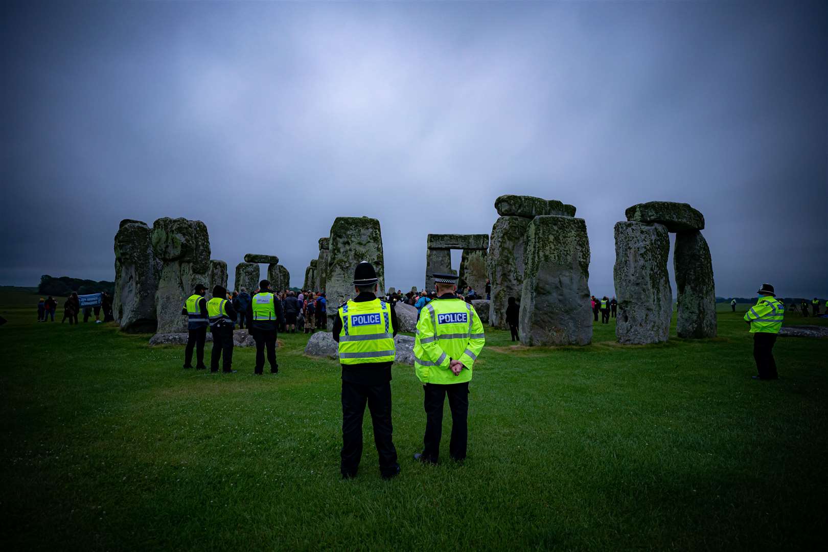
[[[113,280],[118,221],[170,216],[231,284],[262,252],[301,286],[334,218],[368,215],[407,289],[427,233],[531,194],[585,218],[596,295],[614,223],[657,199],[705,215],[717,295],[828,295],[824,2],[0,10],[0,284]]]

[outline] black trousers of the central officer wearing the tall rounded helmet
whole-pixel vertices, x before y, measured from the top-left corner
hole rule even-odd
[[[353,476],[362,458],[362,425],[365,404],[371,411],[373,443],[379,454],[379,471],[383,476],[397,473],[397,449],[391,439],[391,382],[378,386],[342,382],[342,458],[339,469],[344,476]]]

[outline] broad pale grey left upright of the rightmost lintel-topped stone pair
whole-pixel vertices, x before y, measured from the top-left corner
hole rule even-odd
[[[615,293],[619,343],[667,341],[672,290],[667,275],[670,235],[662,224],[615,224]],[[587,301],[589,303],[589,301]]]

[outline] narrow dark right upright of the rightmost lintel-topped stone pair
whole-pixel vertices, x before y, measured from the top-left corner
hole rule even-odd
[[[716,293],[710,247],[698,230],[676,233],[673,252],[680,338],[716,337]]]

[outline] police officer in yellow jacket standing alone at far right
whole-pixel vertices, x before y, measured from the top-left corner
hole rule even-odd
[[[744,314],[744,321],[750,325],[750,333],[753,334],[753,358],[759,372],[753,379],[775,380],[779,376],[776,361],[773,359],[773,344],[776,343],[777,334],[782,329],[785,305],[777,300],[770,284],[763,284],[757,293],[759,300],[756,305]]]

